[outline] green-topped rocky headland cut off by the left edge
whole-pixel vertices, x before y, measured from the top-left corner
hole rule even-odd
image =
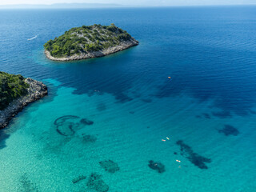
[[[0,129],[24,106],[47,94],[47,87],[32,78],[0,71]]]

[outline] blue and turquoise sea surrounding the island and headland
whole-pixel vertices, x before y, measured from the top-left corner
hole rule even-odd
[[[94,23],[140,44],[45,57]],[[256,6],[0,10],[0,70],[49,87],[0,132],[1,192],[256,191]]]

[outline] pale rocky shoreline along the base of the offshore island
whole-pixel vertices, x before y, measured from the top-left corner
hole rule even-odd
[[[83,54],[83,53],[79,54],[79,55],[75,54],[75,55],[72,55],[72,56],[66,57],[66,58],[54,58],[53,56],[50,55],[50,52],[48,50],[45,50],[45,54],[46,54],[46,58],[49,58],[50,60],[66,62],[66,61],[82,60],[82,59],[86,59],[86,58],[100,58],[100,57],[104,57],[109,54],[114,54],[119,51],[126,50],[132,46],[138,46],[138,41],[135,40],[134,38],[124,41],[120,45],[110,47],[106,50],[94,51],[94,52],[90,52],[87,54]]]

